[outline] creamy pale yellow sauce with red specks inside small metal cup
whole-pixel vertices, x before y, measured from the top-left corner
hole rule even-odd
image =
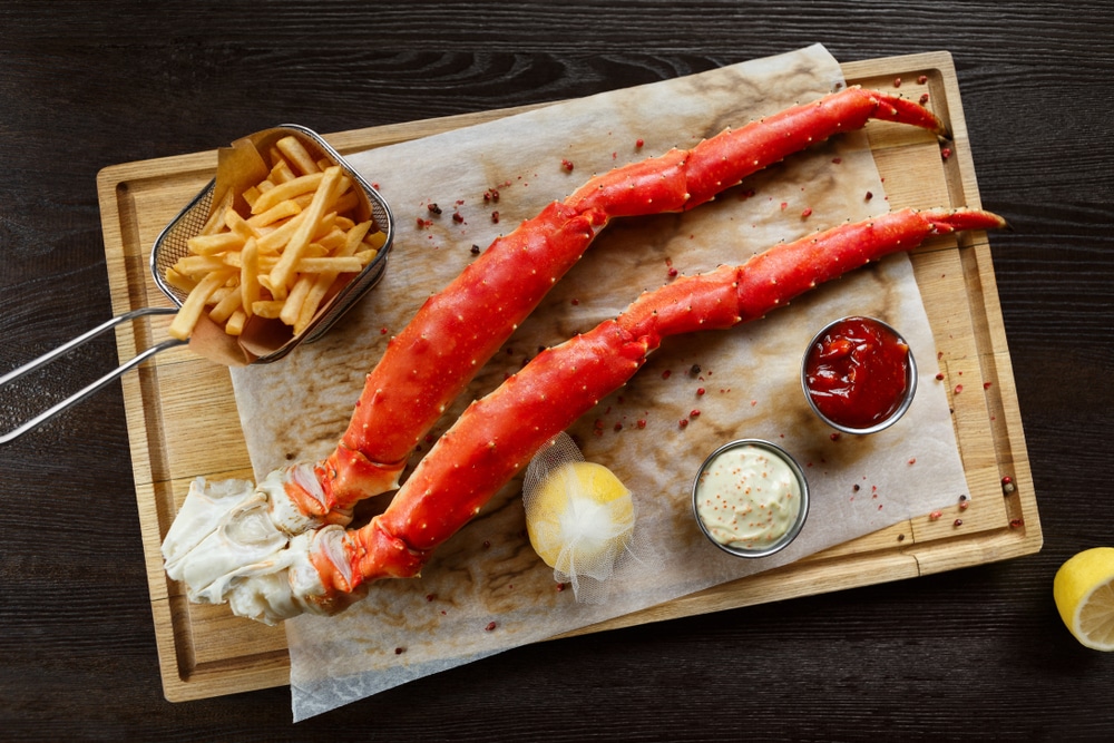
[[[766,549],[801,512],[801,483],[789,462],[754,444],[716,454],[696,481],[696,515],[733,549]]]

